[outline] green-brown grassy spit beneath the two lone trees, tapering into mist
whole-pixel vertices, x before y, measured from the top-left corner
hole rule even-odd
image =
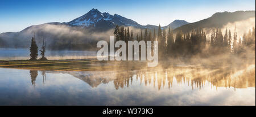
[[[135,64],[133,64],[135,63]],[[137,66],[140,64],[140,66]],[[0,60],[0,67],[40,71],[92,71],[127,70],[141,67],[139,62],[99,61],[97,59],[78,60]],[[136,66],[135,66],[136,65]]]

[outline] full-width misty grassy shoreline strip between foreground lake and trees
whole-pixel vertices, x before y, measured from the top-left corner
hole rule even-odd
[[[160,59],[158,66],[147,67],[147,61],[105,61],[97,59],[60,59],[60,60],[0,60],[0,68],[16,68],[38,71],[119,71],[119,70],[154,70],[170,67],[193,67],[211,69],[242,70],[251,64],[255,66],[255,58],[242,59],[233,56],[214,58],[179,58]]]

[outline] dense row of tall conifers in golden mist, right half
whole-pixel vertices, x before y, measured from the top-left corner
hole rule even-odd
[[[244,33],[242,38],[237,37],[236,29],[233,32],[226,28],[222,33],[220,28],[212,28],[210,33],[206,34],[204,29],[192,29],[191,32],[183,33],[174,31],[169,27],[163,29],[143,29],[136,33],[134,37],[133,30],[129,27],[119,27],[114,29],[115,40],[125,41],[158,41],[160,57],[190,57],[196,54],[241,54],[247,49],[255,50],[255,27],[252,31]],[[156,35],[157,33],[157,35]]]

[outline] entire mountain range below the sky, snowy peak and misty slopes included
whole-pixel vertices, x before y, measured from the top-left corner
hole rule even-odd
[[[169,26],[174,32],[188,32],[195,28],[222,27],[227,23],[244,19],[255,18],[255,11],[217,12],[210,18],[188,23],[184,20],[174,20]],[[89,50],[96,49],[95,45],[99,40],[109,40],[113,36],[115,25],[132,27],[133,33],[139,33],[140,29],[157,29],[156,25],[141,25],[136,21],[127,19],[121,15],[111,15],[108,12],[100,12],[92,9],[85,15],[64,23],[45,23],[32,25],[20,32],[6,32],[0,34],[0,47],[6,48],[28,48],[33,33],[36,35],[36,42],[40,47],[43,38],[47,41],[47,49],[52,50]]]

